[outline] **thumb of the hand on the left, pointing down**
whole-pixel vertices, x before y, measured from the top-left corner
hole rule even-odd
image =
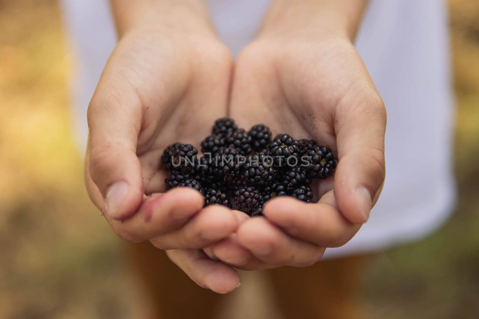
[[[99,85],[88,108],[87,189],[94,204],[114,219],[132,215],[143,196],[136,153],[141,109],[134,90],[111,90],[105,85]]]

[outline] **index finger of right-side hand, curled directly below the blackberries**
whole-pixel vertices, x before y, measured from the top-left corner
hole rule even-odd
[[[317,204],[276,198],[264,206],[263,215],[289,235],[320,247],[340,247],[361,227],[342,216],[332,191]]]

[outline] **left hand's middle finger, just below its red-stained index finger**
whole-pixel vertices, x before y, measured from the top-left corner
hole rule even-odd
[[[204,248],[227,238],[239,226],[236,216],[222,205],[210,205],[182,228],[150,239],[160,249]]]

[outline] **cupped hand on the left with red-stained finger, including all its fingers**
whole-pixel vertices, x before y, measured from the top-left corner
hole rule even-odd
[[[186,15],[180,9],[169,14]],[[203,209],[193,189],[162,194],[167,172],[159,163],[174,142],[199,146],[209,133],[205,123],[226,115],[232,60],[208,23],[202,27],[197,16],[173,20],[181,25],[127,20],[88,108],[85,181],[119,236],[171,250],[171,260],[198,285],[225,293],[239,285],[238,273],[198,249],[236,231],[238,212]]]

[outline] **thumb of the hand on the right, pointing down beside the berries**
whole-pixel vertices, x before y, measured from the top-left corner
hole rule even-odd
[[[365,95],[358,100],[358,96]],[[374,85],[367,84],[348,91],[337,107],[335,119],[339,164],[334,194],[349,221],[364,223],[386,174],[386,109]]]

